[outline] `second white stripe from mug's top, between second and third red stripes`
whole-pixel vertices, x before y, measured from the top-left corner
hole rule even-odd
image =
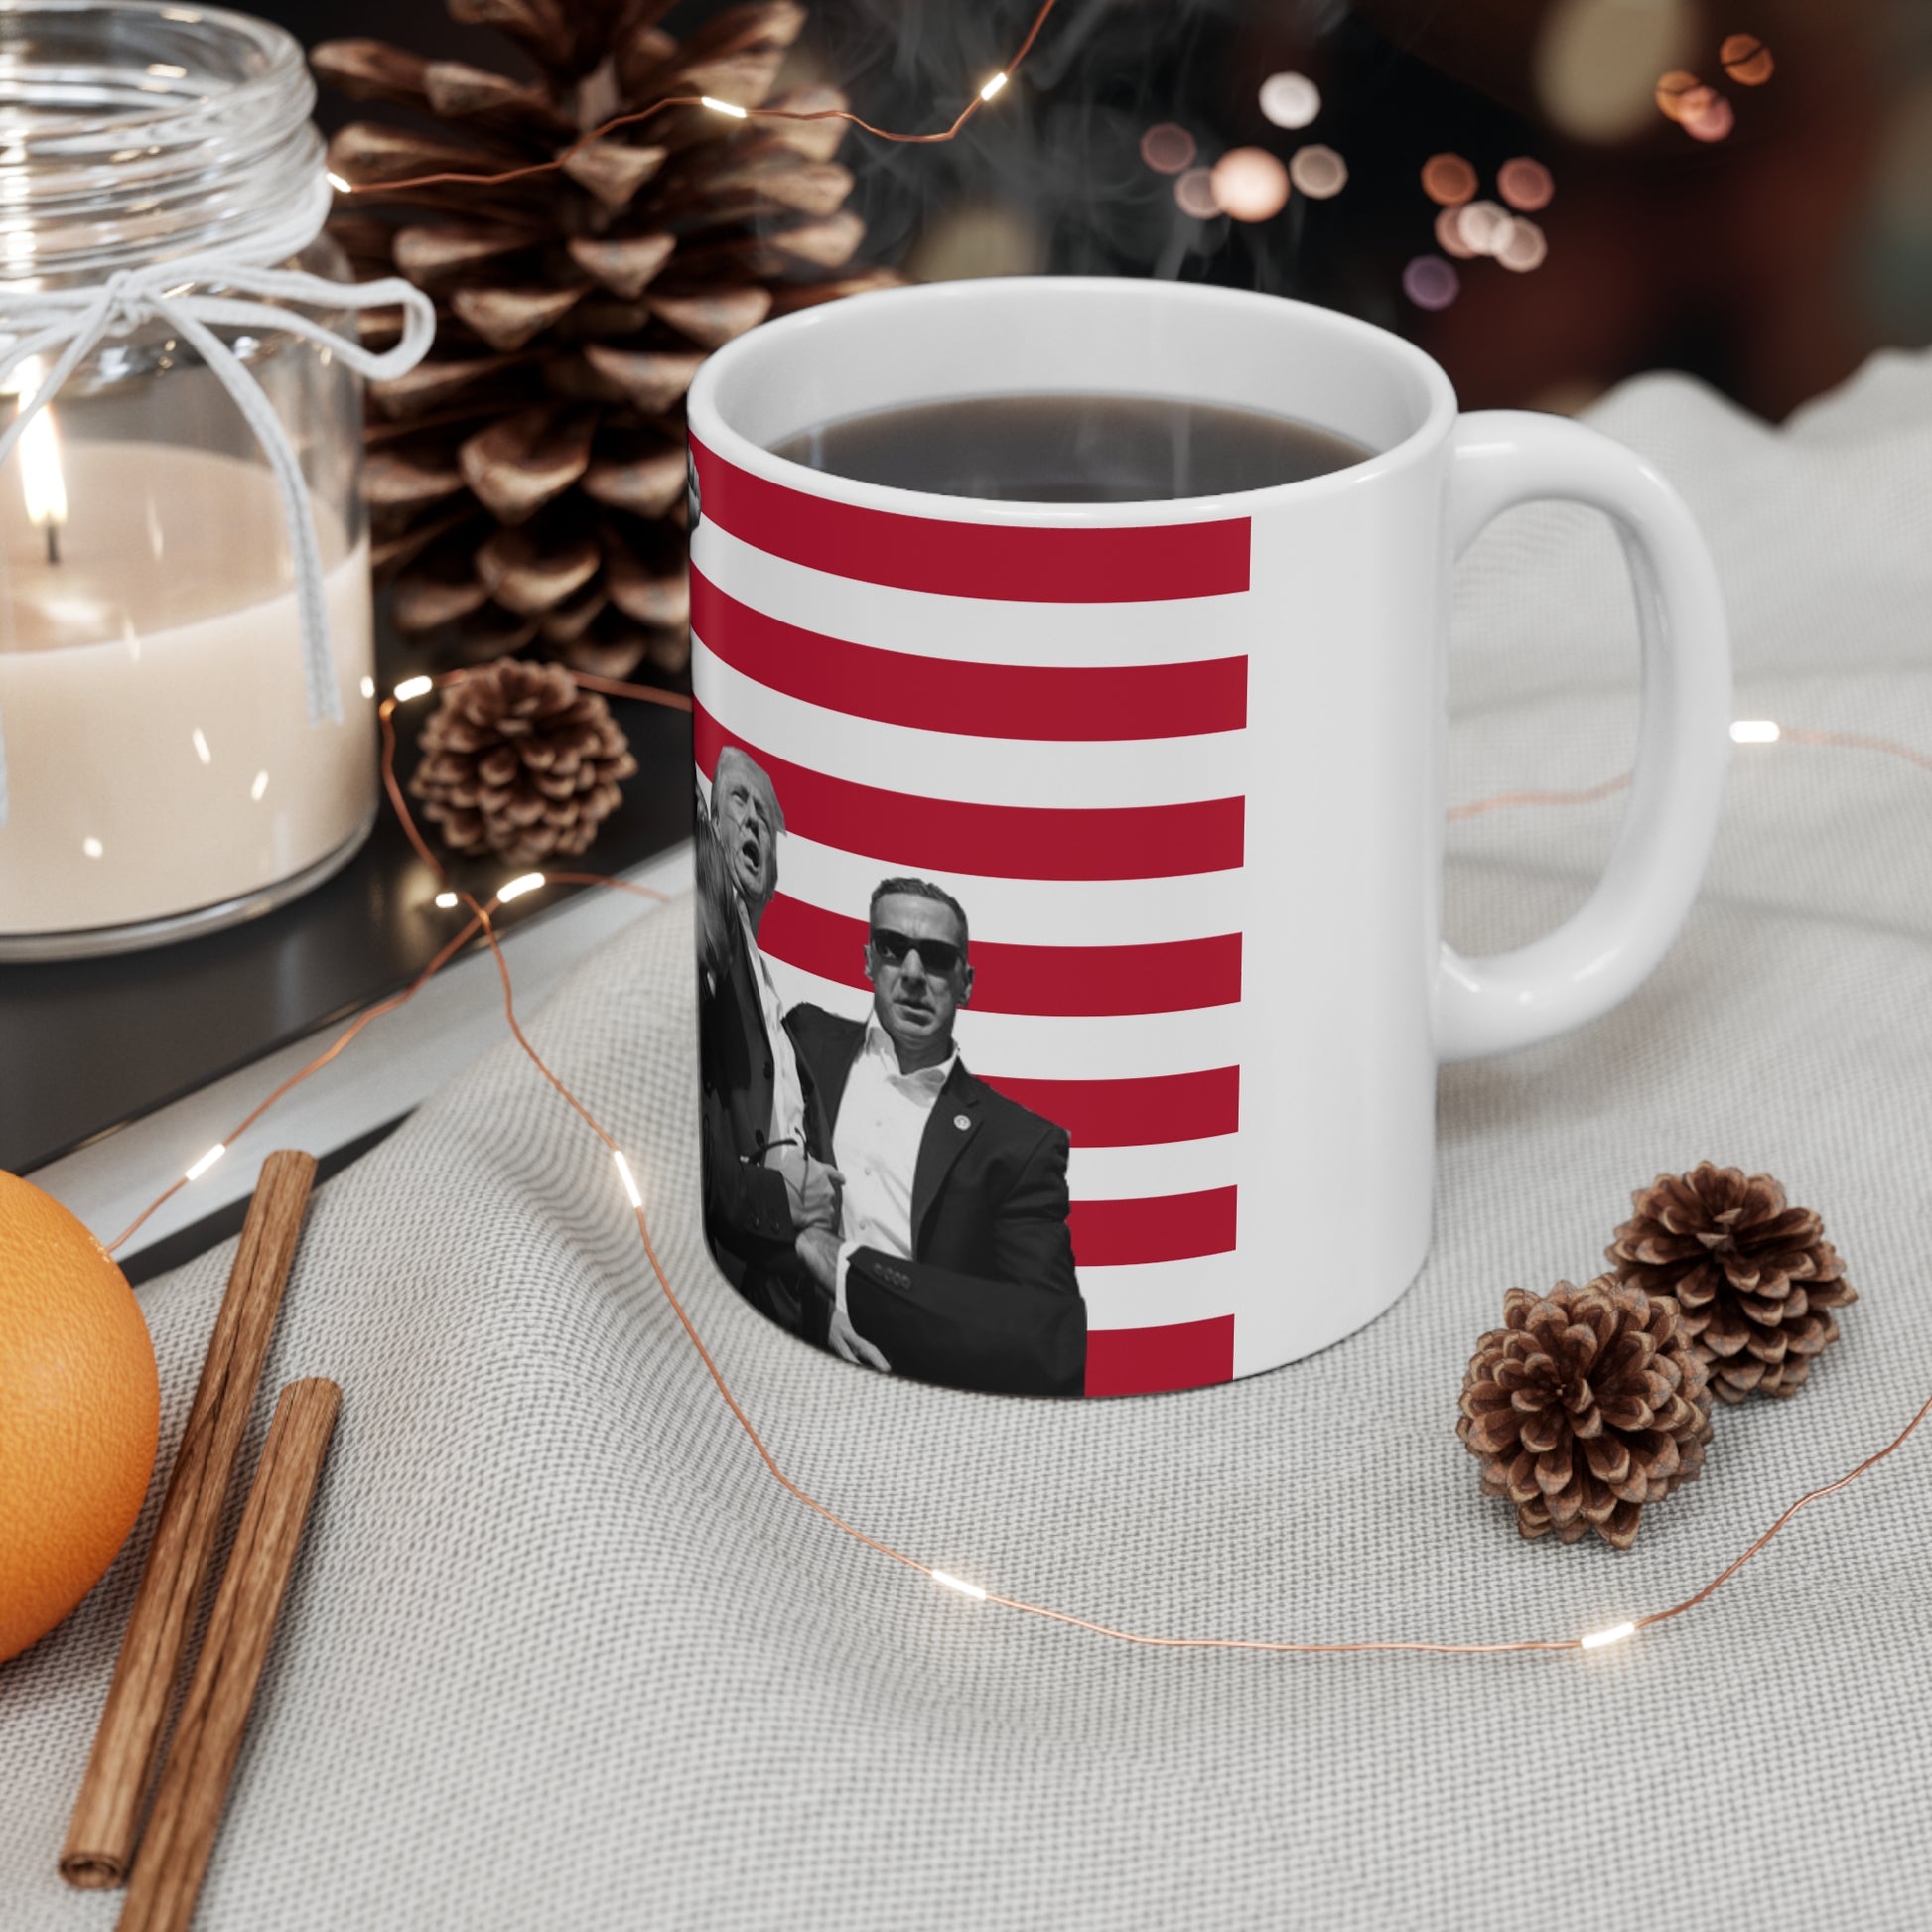
[[[1175,806],[1246,790],[1242,730],[1188,738],[970,738],[808,705],[692,638],[692,690],[728,732],[831,779],[978,806]],[[779,806],[784,806],[781,794]]]

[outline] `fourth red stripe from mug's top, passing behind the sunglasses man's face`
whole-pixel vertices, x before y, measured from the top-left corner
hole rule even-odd
[[[867,931],[866,920],[848,920],[781,893],[765,908],[757,945],[821,980],[867,987]],[[1022,947],[976,939],[968,960],[976,1012],[1184,1012],[1240,999],[1240,933],[1144,947]]]

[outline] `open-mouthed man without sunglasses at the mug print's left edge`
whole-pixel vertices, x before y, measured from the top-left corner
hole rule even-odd
[[[784,813],[763,767],[726,746],[697,800],[697,1030],[705,1233],[753,1308],[825,1341],[831,1296],[798,1260],[838,1227],[838,1175],[808,1148],[806,1090],[757,927],[779,889]]]

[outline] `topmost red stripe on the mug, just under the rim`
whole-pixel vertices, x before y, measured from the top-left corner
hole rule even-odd
[[[692,437],[703,518],[835,578],[941,597],[1148,603],[1248,587],[1248,518],[1090,526],[968,524],[862,510],[767,483]]]

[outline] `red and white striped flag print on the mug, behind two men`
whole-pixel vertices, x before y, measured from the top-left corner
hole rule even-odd
[[[891,516],[692,454],[697,767],[779,794],[781,993],[866,1012],[873,885],[951,891],[960,1053],[1072,1138],[1088,1395],[1229,1379],[1248,665],[1200,599],[1246,591],[1248,522]]]

